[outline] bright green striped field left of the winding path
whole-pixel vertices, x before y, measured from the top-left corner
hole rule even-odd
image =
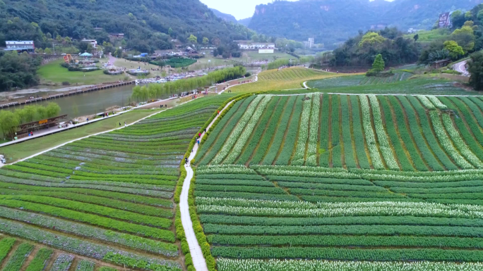
[[[180,163],[195,134],[232,96],[196,99],[1,168],[0,233],[64,251],[55,258],[37,251],[41,245],[23,241],[16,248],[17,241],[19,252],[6,257],[12,239],[5,237],[0,241],[0,260],[8,260],[4,270],[26,267],[28,251],[36,252],[28,271],[49,263],[50,270],[78,264],[77,270],[87,271],[97,269],[93,262],[183,270],[174,225],[174,194],[186,175]]]

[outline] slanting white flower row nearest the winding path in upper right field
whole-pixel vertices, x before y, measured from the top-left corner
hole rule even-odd
[[[227,141],[225,141],[225,144],[223,144],[222,149],[217,153],[215,158],[213,158],[213,164],[221,163],[222,160],[227,156],[229,150],[231,150],[232,146],[237,142],[238,137],[240,136],[241,132],[243,132],[244,127],[249,122],[251,116],[254,115],[256,107],[263,97],[263,95],[258,95],[254,101],[251,101],[250,106],[246,108],[246,112],[241,116],[237,126],[235,126],[232,133],[229,134],[229,137],[227,138]]]

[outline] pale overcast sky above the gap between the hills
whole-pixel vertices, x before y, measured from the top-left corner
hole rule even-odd
[[[208,8],[215,8],[222,13],[234,15],[237,20],[254,15],[255,6],[272,3],[272,0],[200,0]],[[297,1],[297,0],[286,0]],[[372,0],[371,0],[372,1]],[[393,0],[386,0],[393,1]]]

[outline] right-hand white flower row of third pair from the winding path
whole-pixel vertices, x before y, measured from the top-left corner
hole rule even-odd
[[[383,154],[386,164],[390,170],[400,170],[398,162],[395,160],[393,149],[390,147],[388,136],[382,122],[381,108],[379,108],[379,102],[376,95],[369,95],[371,101],[372,115],[374,116],[374,126],[376,127],[377,139],[379,141],[379,147]]]

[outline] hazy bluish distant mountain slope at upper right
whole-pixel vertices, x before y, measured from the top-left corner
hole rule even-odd
[[[357,34],[358,30],[397,26],[430,28],[440,13],[469,10],[483,0],[299,0],[274,1],[256,6],[249,27],[275,37],[306,40],[330,47]]]

